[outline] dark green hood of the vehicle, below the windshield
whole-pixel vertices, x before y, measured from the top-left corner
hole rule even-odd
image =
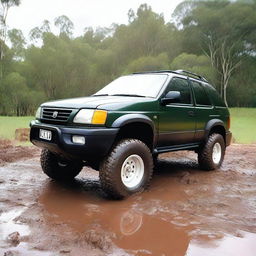
[[[106,110],[119,109],[129,105],[142,102],[155,101],[152,98],[143,97],[127,97],[127,96],[92,96],[73,98],[66,100],[50,101],[43,103],[42,107],[55,108],[101,108]]]

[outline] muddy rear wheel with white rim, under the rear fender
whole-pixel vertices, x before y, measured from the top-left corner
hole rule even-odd
[[[225,149],[223,136],[217,133],[211,134],[198,152],[200,168],[206,171],[218,169],[223,162]]]

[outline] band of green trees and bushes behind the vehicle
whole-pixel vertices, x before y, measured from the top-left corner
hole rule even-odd
[[[0,1],[8,10],[20,3]],[[143,4],[126,25],[85,28],[78,37],[62,15],[33,28],[28,42],[20,30],[6,33],[5,20],[0,29],[11,47],[0,40],[0,114],[32,115],[46,100],[90,95],[122,74],[160,69],[199,73],[227,93],[230,106],[256,107],[255,8],[255,1],[184,1],[175,23],[166,23]]]

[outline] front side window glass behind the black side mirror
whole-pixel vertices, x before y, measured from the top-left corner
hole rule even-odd
[[[191,90],[188,81],[182,78],[173,78],[168,85],[168,91],[180,92],[180,104],[191,104]]]

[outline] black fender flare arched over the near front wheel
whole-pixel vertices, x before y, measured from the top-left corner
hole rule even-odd
[[[153,144],[157,140],[157,132],[154,122],[144,114],[125,114],[117,118],[111,125],[112,128],[121,128],[127,124],[132,123],[145,123],[148,124],[153,131]]]

